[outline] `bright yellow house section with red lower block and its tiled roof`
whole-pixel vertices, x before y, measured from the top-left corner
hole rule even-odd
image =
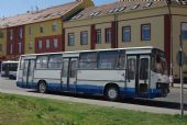
[[[76,0],[31,12],[32,20],[25,24],[25,54],[64,52],[63,22],[90,5],[91,0]]]

